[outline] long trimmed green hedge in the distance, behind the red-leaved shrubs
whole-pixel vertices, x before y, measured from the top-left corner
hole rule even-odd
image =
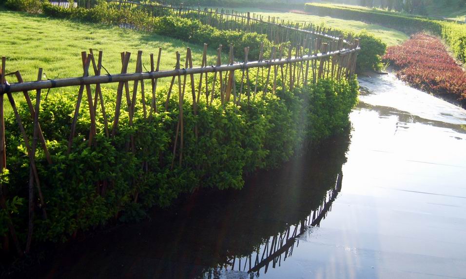
[[[375,23],[408,34],[427,31],[446,40],[456,58],[462,62],[466,62],[466,25],[464,24],[409,17],[385,11],[363,10],[317,3],[307,3],[305,11],[317,16]]]

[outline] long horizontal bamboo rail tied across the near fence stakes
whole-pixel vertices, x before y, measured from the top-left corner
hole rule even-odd
[[[184,75],[193,75],[201,73],[214,73],[214,72],[226,72],[240,69],[250,68],[261,68],[270,66],[280,66],[285,64],[292,64],[303,61],[320,60],[324,58],[330,58],[332,56],[345,56],[351,53],[359,51],[360,48],[344,49],[343,51],[333,51],[325,54],[316,55],[305,55],[303,57],[295,57],[291,59],[275,59],[275,60],[263,60],[253,61],[247,63],[234,63],[234,64],[223,64],[220,66],[207,66],[207,67],[196,67],[188,69],[175,69],[169,71],[158,71],[158,72],[144,72],[144,73],[131,73],[131,74],[115,74],[115,75],[104,75],[104,76],[89,76],[89,77],[77,77],[77,78],[66,78],[57,80],[40,80],[40,81],[29,81],[21,83],[5,83],[0,85],[0,94],[23,92],[30,90],[69,87],[78,85],[89,85],[89,84],[102,84],[102,83],[114,83],[114,82],[127,82],[134,80],[152,80]]]

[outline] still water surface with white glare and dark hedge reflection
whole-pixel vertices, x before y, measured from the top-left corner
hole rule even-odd
[[[466,278],[466,111],[360,78],[352,129],[241,191],[58,251],[44,278]]]

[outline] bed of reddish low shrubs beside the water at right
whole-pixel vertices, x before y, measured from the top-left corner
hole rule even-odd
[[[436,37],[416,34],[402,45],[389,47],[384,59],[399,69],[400,79],[466,105],[466,73]]]

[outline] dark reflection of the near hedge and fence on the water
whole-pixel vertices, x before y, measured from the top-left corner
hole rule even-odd
[[[341,190],[349,134],[283,167],[246,179],[242,190],[202,190],[150,219],[98,233],[58,251],[41,278],[215,278],[263,275],[292,257]],[[286,268],[286,267],[282,267]],[[238,274],[237,274],[238,275]]]

